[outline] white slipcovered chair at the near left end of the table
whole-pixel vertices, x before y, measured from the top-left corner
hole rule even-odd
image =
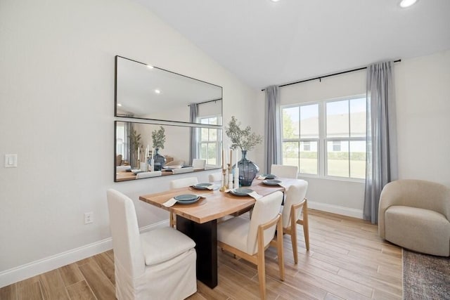
[[[107,197],[117,299],[178,300],[195,293],[195,242],[169,227],[139,234],[133,201],[112,189]]]

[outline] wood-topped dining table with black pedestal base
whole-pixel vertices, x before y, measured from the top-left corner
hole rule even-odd
[[[297,179],[276,178],[280,184],[268,185],[264,180],[255,178],[250,188],[260,196],[266,196],[278,190],[284,192]],[[217,189],[198,190],[192,186],[176,188],[165,192],[139,196],[139,200],[172,211],[176,215],[176,229],[191,237],[197,252],[197,279],[210,288],[217,286],[217,223],[224,216],[236,215],[250,210],[255,198],[250,195],[233,195],[219,190],[221,183],[213,183]],[[197,202],[183,204],[176,202],[172,207],[163,205],[178,195],[199,195]]]

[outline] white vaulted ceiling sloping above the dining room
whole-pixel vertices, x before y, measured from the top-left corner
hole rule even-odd
[[[136,0],[255,89],[450,48],[450,1]]]

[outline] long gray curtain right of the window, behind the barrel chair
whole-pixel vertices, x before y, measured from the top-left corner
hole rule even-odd
[[[367,67],[367,157],[364,220],[378,223],[383,187],[397,179],[394,63]]]

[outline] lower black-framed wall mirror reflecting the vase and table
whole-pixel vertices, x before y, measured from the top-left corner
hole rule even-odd
[[[219,119],[193,127],[115,121],[114,181],[219,169],[222,130],[206,125]]]

